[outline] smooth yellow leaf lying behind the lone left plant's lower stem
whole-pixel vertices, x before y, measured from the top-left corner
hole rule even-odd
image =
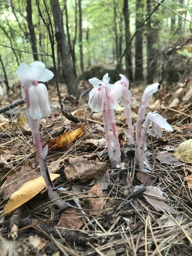
[[[59,174],[55,173],[50,174],[52,181],[59,176]],[[14,209],[35,197],[44,188],[46,188],[46,184],[42,176],[25,182],[16,192],[12,194],[4,207],[4,212],[2,215],[10,214]]]

